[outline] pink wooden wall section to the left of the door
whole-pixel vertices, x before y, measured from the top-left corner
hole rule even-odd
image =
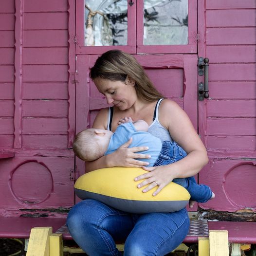
[[[0,149],[16,152],[0,159],[0,216],[73,205],[70,11],[67,0],[0,0]]]

